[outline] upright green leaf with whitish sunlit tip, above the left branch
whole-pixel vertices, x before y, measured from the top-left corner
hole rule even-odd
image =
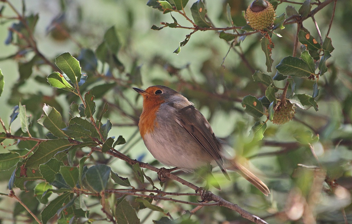
[[[43,106],[43,111],[44,113],[42,117],[37,122],[43,125],[55,136],[59,138],[67,137],[67,135],[61,130],[66,127],[66,124],[62,120],[61,114],[54,107],[46,104]]]

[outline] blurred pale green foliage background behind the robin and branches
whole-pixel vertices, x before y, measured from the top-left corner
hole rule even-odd
[[[11,2],[15,8],[21,11],[21,1]],[[120,70],[114,69],[112,72],[114,77],[118,79],[111,79],[107,75],[105,80],[90,80],[88,73],[88,82],[89,80],[92,82],[87,85],[92,88],[98,84],[117,81],[111,90],[97,100],[97,108],[105,101],[111,103],[106,117],[113,124],[109,136],[122,135],[127,141],[125,145],[116,147],[117,150],[128,154],[133,159],[136,158],[161,167],[154,161],[140,140],[136,125],[141,111],[142,99],[130,87],[146,88],[151,85],[163,84],[180,91],[190,99],[209,119],[215,134],[225,139],[238,154],[250,159],[251,164],[263,173],[264,182],[269,186],[272,194],[269,197],[261,195],[235,173],[231,174],[233,182],[227,182],[220,172],[215,172],[214,176],[220,183],[222,190],[217,191],[210,187],[212,192],[259,217],[264,217],[269,223],[309,223],[309,214],[318,223],[344,223],[345,219],[352,222],[352,186],[350,184],[352,175],[350,164],[352,159],[352,39],[351,29],[349,29],[352,27],[352,21],[348,19],[352,16],[351,1],[337,1],[335,18],[329,34],[335,50],[327,63],[328,72],[318,81],[320,93],[316,100],[319,104],[319,111],[315,112],[313,108],[306,111],[297,108],[297,114],[293,121],[280,126],[269,123],[268,129],[264,133],[264,139],[257,142],[252,141],[250,130],[259,119],[254,119],[244,113],[240,102],[244,96],[249,94],[258,98],[265,95],[266,87],[255,83],[252,78],[254,71],[266,71],[265,57],[259,42],[260,34],[247,37],[241,43],[241,48],[235,47],[235,50],[230,50],[225,59],[225,67],[222,67],[223,58],[230,45],[218,38],[219,34],[214,31],[198,31],[191,36],[188,44],[182,47],[178,55],[174,54],[172,52],[177,48],[178,43],[184,40],[190,32],[172,28],[164,28],[161,31],[150,29],[152,25],[158,26],[162,21],[172,22],[172,18],[170,14],[162,14],[147,7],[146,2],[142,0],[38,0],[25,1],[25,3],[26,15],[39,13],[34,37],[39,50],[51,61],[64,52],[70,52],[77,56],[80,54],[81,48],[95,50],[101,43],[106,30],[111,26],[115,27],[120,41],[118,58],[124,65],[124,71],[121,68]],[[206,1],[208,18],[217,27],[229,26],[226,19],[227,3],[231,6],[231,15],[235,25],[245,25],[244,20],[241,19],[241,12],[246,9],[250,1],[208,0]],[[191,4],[193,2],[189,3],[188,12]],[[281,15],[285,12],[287,5],[294,6],[298,11],[299,5],[283,3],[278,6],[276,14]],[[315,15],[322,35],[327,32],[332,8],[333,4],[330,4]],[[65,37],[57,29],[50,32],[47,30],[48,27],[49,30],[52,28],[51,21],[62,13],[64,13],[64,19],[55,21],[58,21],[59,25],[68,31],[72,39]],[[15,16],[9,7],[4,9],[2,15]],[[187,23],[181,15],[176,13],[172,15],[180,24]],[[0,40],[2,40],[0,58],[3,59],[17,52],[18,48],[4,44],[8,35],[8,27],[14,21],[6,18],[2,18],[2,21],[4,23],[0,26]],[[311,19],[304,21],[303,24],[315,38],[318,38]],[[272,52],[274,66],[272,67],[273,72],[269,73],[272,77],[275,75],[275,66],[279,61],[283,57],[292,55],[296,26],[287,25],[285,29],[277,30],[277,32],[283,38],[273,36],[275,43]],[[58,94],[53,98],[56,102],[52,101],[51,106],[62,112],[65,122],[68,122],[69,105],[72,100],[78,101],[78,98],[59,94],[61,92],[53,90],[48,83],[40,83],[39,79],[35,78],[48,76],[52,72],[50,67],[34,66],[30,77],[20,80],[18,62],[28,61],[32,55],[29,53],[24,58],[13,57],[0,61],[0,68],[5,79],[4,92],[0,97],[0,117],[8,125],[9,116],[13,111],[12,107],[18,105],[21,98],[21,103],[26,103],[27,111],[30,111],[33,120],[36,121],[42,113],[42,103],[48,103],[45,97],[38,98],[37,96],[51,97]],[[245,60],[241,56],[245,57]],[[98,71],[108,73],[107,67],[102,68],[101,63],[98,64]],[[13,86],[21,81],[23,84],[18,88],[19,93],[12,91]],[[297,93],[312,94],[313,80],[295,79],[295,81]],[[283,81],[276,83],[280,87],[284,86]],[[59,109],[60,107],[62,109]],[[20,129],[19,119],[12,124],[12,130],[17,129]],[[319,141],[312,141],[312,136],[314,138],[317,134],[320,137]],[[4,145],[13,144],[13,142],[13,140],[5,140]],[[312,143],[319,163],[312,155],[308,142]],[[15,149],[17,148],[13,145],[1,148],[0,152],[7,153],[8,150]],[[83,149],[83,154],[88,152],[89,150]],[[125,162],[119,159],[109,160],[110,157],[95,152],[89,163],[108,164],[114,172],[129,177],[132,183],[137,183],[131,169]],[[319,169],[312,170],[312,166]],[[321,180],[320,184],[315,183],[313,177],[321,175],[324,177],[325,171],[330,179],[327,179],[327,182]],[[12,172],[13,168],[1,171],[0,192],[8,193],[7,184]],[[155,173],[145,172],[156,180]],[[196,174],[179,174],[191,183],[194,183],[198,178]],[[331,184],[332,180],[337,180],[337,185]],[[201,182],[196,184],[204,185]],[[110,183],[109,186],[113,187],[113,184]],[[167,182],[165,186],[169,191],[193,192],[173,181]],[[20,192],[18,191],[18,193]],[[25,197],[28,196],[23,195],[23,198]],[[55,198],[54,195],[50,199],[53,198]],[[33,196],[32,199],[37,200]],[[184,200],[193,202],[196,202],[197,199],[199,200],[199,198],[191,196],[184,198]],[[99,199],[86,198],[86,204],[89,207],[90,218],[99,220],[105,217],[100,210]],[[173,218],[182,216],[184,210],[194,208],[194,206],[173,202],[158,202],[158,205],[163,207],[165,213],[170,212]],[[12,223],[13,214],[15,214],[18,215],[16,219],[19,223],[26,222],[28,219],[30,219],[28,222],[31,222],[31,216],[20,207],[13,198],[2,196],[0,198],[0,220],[3,223]],[[32,209],[39,214],[43,207],[43,204],[38,203]],[[151,220],[159,220],[163,216],[162,213],[156,211],[151,215],[149,212],[147,209],[140,210],[138,217],[141,220],[146,217],[145,223],[150,223]],[[344,213],[346,213],[345,217]],[[225,220],[246,222],[234,211],[222,207],[203,207],[191,219],[195,223],[223,223]],[[107,221],[102,220],[96,223],[100,222]]]

